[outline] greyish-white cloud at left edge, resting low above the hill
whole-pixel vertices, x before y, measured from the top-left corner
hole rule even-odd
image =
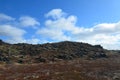
[[[7,37],[6,42],[8,43],[38,44],[40,42],[37,38],[25,39],[23,37],[25,33],[25,30],[13,27],[11,25],[0,25],[0,36]]]

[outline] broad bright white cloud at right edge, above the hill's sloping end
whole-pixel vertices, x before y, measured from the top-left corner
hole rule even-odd
[[[83,28],[83,32],[75,34],[78,41],[90,44],[101,44],[106,49],[119,49],[120,47],[120,24],[101,23],[91,28]],[[82,39],[81,39],[82,38]]]

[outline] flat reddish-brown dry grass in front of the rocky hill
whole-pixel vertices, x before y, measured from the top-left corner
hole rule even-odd
[[[113,80],[119,63],[108,60],[73,60],[0,66],[0,80]]]

